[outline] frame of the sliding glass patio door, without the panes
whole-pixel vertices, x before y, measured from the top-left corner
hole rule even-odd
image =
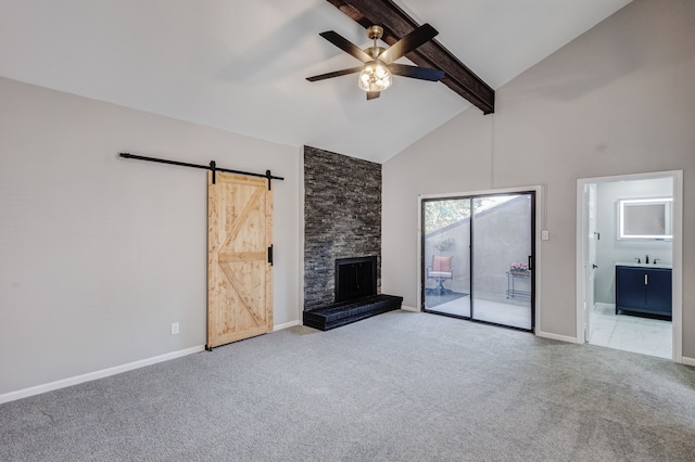
[[[507,328],[507,329],[513,329],[513,330],[517,330],[517,331],[522,331],[522,332],[531,332],[531,333],[535,333],[536,332],[536,321],[538,321],[538,317],[536,317],[536,293],[540,288],[540,280],[539,280],[539,274],[540,274],[540,266],[539,266],[539,261],[540,259],[540,254],[539,254],[539,249],[540,249],[540,240],[541,240],[541,234],[538,232],[539,229],[539,222],[541,221],[541,207],[539,207],[539,202],[542,198],[541,195],[542,192],[542,187],[530,187],[530,188],[519,188],[519,189],[504,189],[504,190],[492,190],[492,191],[477,191],[477,192],[470,192],[470,193],[451,193],[451,194],[430,194],[430,195],[419,195],[418,196],[418,223],[419,223],[419,239],[418,239],[418,261],[420,262],[420,265],[418,266],[418,293],[419,293],[419,310],[424,311],[424,312],[430,312],[430,313],[434,313],[434,315],[440,315],[440,316],[447,316],[447,317],[452,317],[452,318],[457,318],[457,319],[463,319],[463,320],[468,320],[468,321],[473,321],[473,322],[479,322],[479,323],[483,323],[483,324],[490,324],[490,325],[498,325],[498,326],[503,326],[503,328]],[[506,324],[501,324],[501,323],[496,323],[496,322],[490,322],[490,321],[484,321],[484,320],[480,320],[480,319],[476,319],[475,318],[475,304],[473,304],[473,291],[475,291],[475,286],[473,286],[473,235],[472,235],[472,228],[475,226],[475,218],[473,218],[473,210],[472,210],[472,204],[473,204],[473,200],[479,198],[479,197],[489,197],[489,196],[500,196],[500,195],[511,195],[511,194],[518,194],[518,195],[523,195],[523,194],[529,194],[531,195],[531,213],[530,213],[530,228],[531,228],[531,277],[530,277],[530,315],[531,315],[531,329],[523,329],[523,328],[518,328],[518,326],[514,326],[514,325],[506,325]],[[445,312],[439,312],[437,310],[432,310],[432,309],[428,309],[426,308],[425,304],[426,304],[426,270],[425,267],[427,266],[427,261],[425,261],[425,247],[426,247],[426,229],[425,229],[425,207],[426,204],[428,202],[433,202],[433,201],[456,201],[456,200],[470,200],[471,202],[471,217],[470,217],[470,242],[469,242],[469,258],[470,258],[470,271],[468,274],[469,278],[469,284],[470,284],[470,315],[469,316],[458,316],[458,315],[451,315],[451,313],[445,313]]]

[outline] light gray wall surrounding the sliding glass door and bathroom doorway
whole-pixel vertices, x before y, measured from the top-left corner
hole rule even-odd
[[[579,178],[684,171],[695,193],[695,2],[635,0],[383,168],[387,294],[417,306],[417,195],[541,184],[545,203],[536,331],[576,337]],[[695,214],[684,210],[683,280],[695,280]],[[409,232],[407,230],[410,230]],[[695,286],[684,284],[683,354],[695,357]]]

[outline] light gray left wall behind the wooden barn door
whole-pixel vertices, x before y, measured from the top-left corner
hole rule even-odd
[[[285,177],[275,323],[299,320],[299,149],[3,78],[0,101],[0,395],[205,344],[206,172],[118,152]]]

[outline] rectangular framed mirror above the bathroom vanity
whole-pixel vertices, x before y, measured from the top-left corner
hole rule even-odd
[[[618,239],[672,240],[672,197],[619,200]]]

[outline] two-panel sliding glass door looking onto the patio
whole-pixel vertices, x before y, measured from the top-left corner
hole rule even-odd
[[[425,311],[533,331],[533,192],[422,200]]]

